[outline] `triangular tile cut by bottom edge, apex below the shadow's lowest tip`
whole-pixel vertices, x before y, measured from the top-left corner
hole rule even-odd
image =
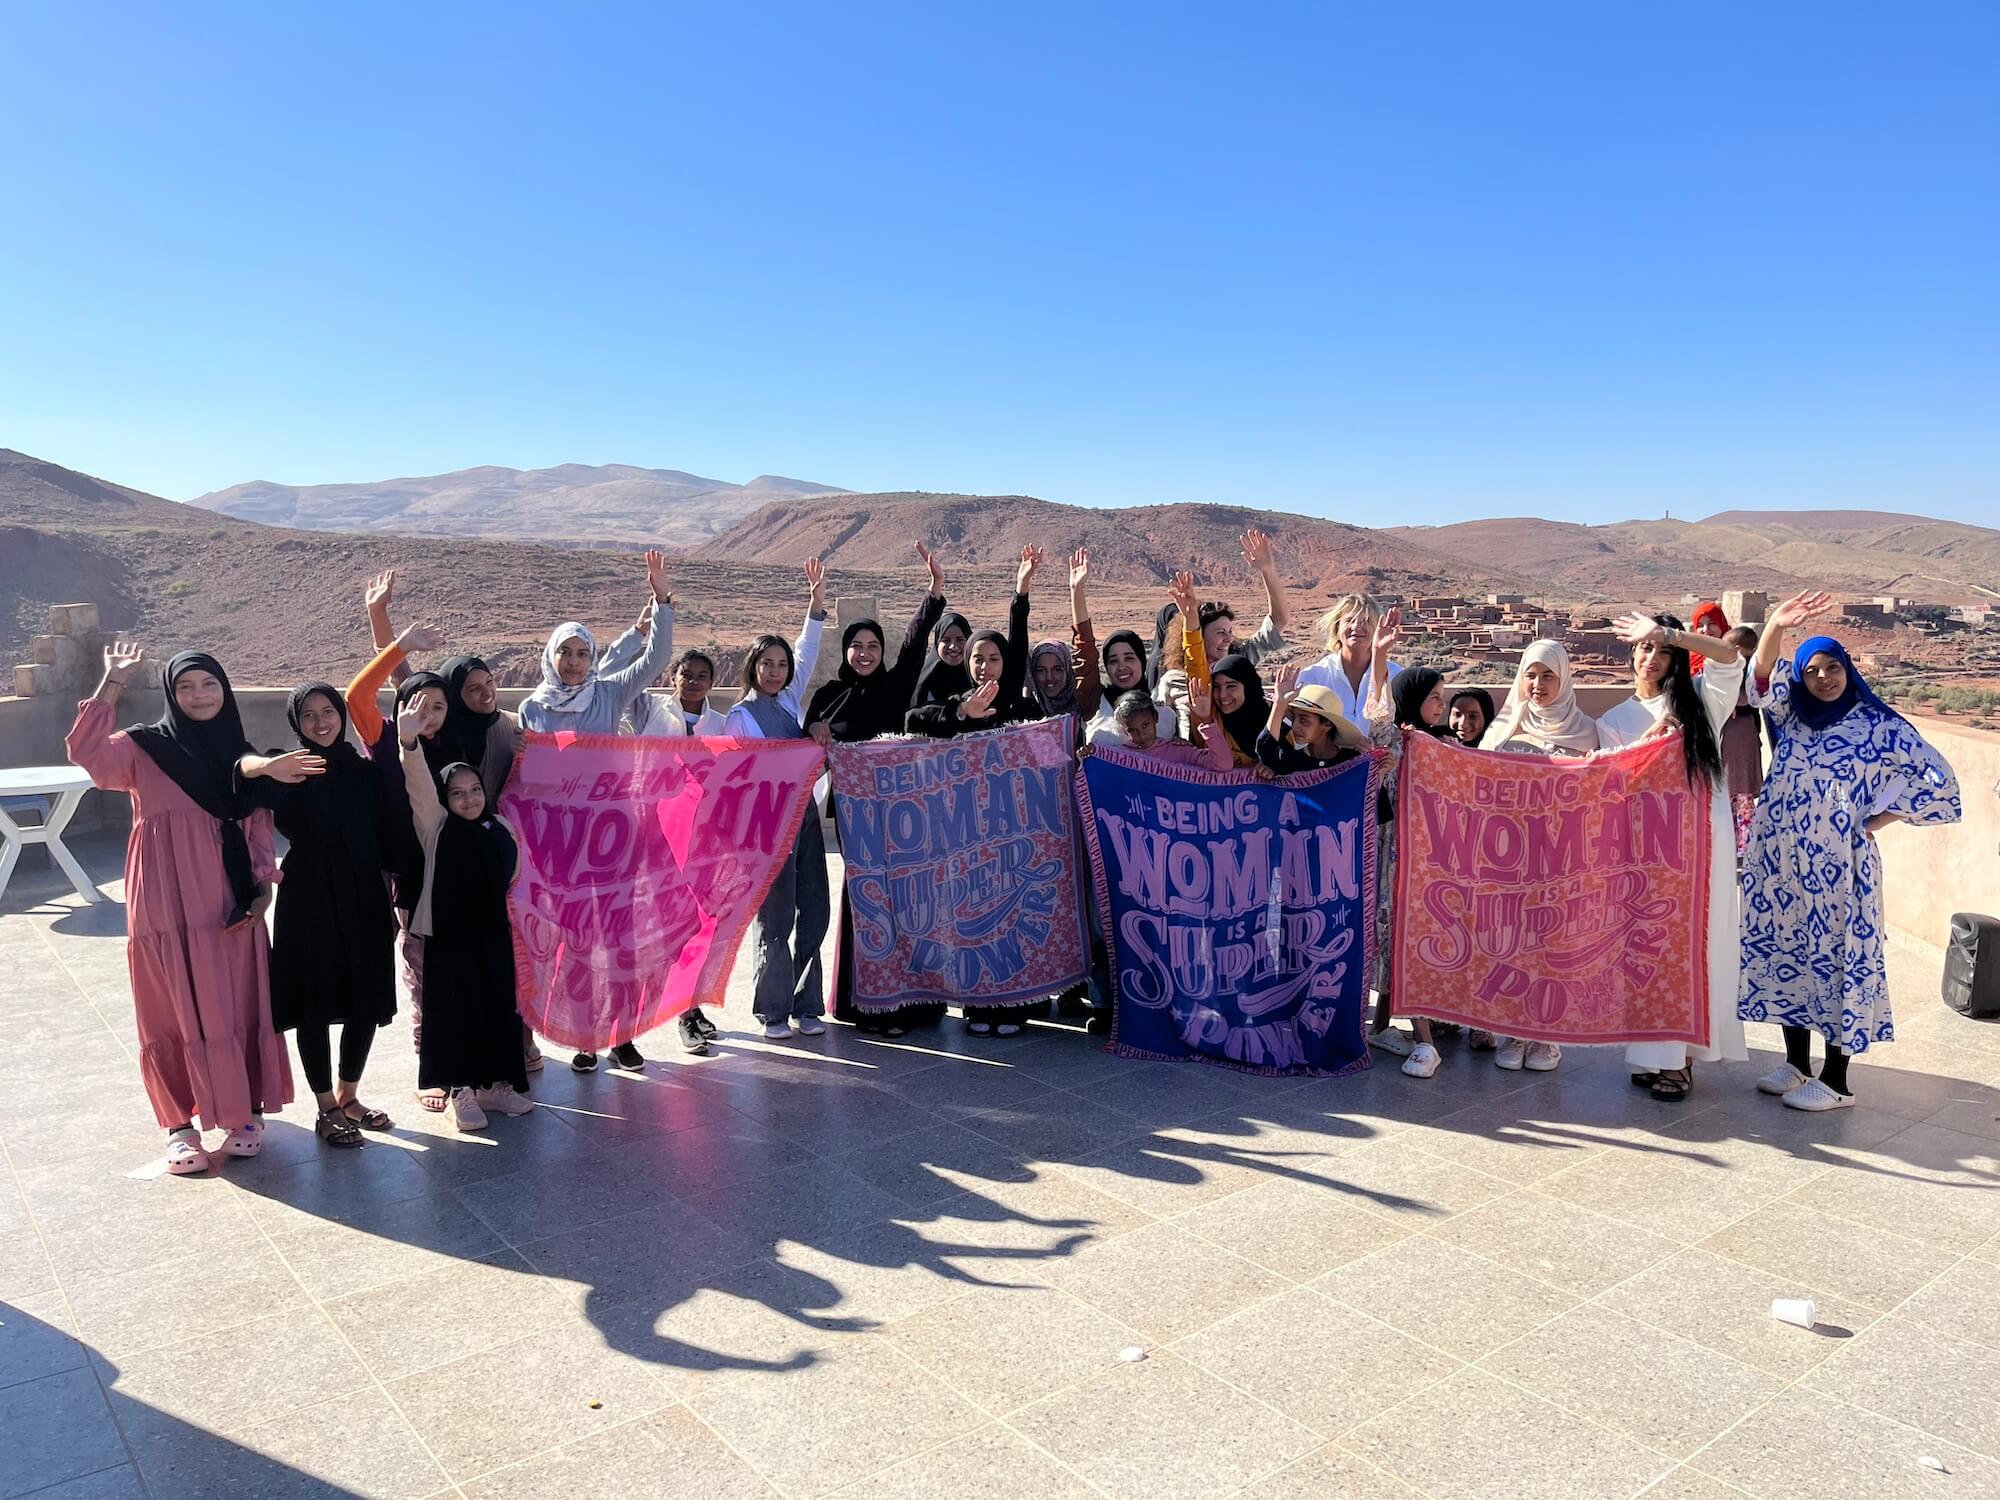
[[[756,1470],[684,1406],[550,1448],[460,1486],[466,1500],[778,1500]]]

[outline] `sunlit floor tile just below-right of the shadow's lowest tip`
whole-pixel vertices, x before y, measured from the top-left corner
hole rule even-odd
[[[876,1338],[782,1376],[730,1380],[690,1406],[788,1496],[828,1494],[982,1422]]]

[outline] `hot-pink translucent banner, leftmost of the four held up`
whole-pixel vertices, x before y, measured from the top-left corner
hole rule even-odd
[[[500,796],[522,1018],[602,1052],[720,1006],[820,764],[810,740],[522,734]]]

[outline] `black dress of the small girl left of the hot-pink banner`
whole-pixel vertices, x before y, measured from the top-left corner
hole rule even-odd
[[[418,1088],[528,1090],[514,1008],[514,934],[506,888],[518,850],[498,818],[446,814],[430,870],[424,1036]]]

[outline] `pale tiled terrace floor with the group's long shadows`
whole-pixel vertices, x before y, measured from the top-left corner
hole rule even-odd
[[[948,1022],[552,1058],[466,1138],[398,1022],[392,1138],[294,1106],[176,1180],[122,908],[30,866],[0,1496],[2000,1494],[2000,1028],[1900,952],[1836,1116],[1752,1092],[1768,1036],[1674,1108],[1608,1054],[1288,1082]]]

